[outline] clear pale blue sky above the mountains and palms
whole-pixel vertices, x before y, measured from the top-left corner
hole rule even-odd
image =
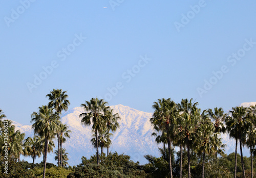
[[[0,108],[19,123],[56,88],[70,108],[95,96],[145,112],[162,97],[224,111],[256,101],[255,1],[22,0],[0,9]]]

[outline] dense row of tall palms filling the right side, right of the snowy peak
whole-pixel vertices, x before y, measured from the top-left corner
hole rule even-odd
[[[249,108],[234,107],[229,111],[229,115],[224,113],[222,108],[201,111],[197,106],[198,103],[193,103],[193,99],[182,99],[180,103],[175,103],[170,98],[162,98],[154,102],[153,109],[155,111],[151,123],[157,132],[152,135],[156,136],[157,143],[163,143],[163,151],[165,144],[167,144],[168,176],[173,177],[172,149],[174,146],[178,146],[180,147],[180,154],[176,156],[180,156],[179,177],[183,177],[184,173],[186,174],[185,177],[191,177],[191,155],[196,155],[198,160],[202,162],[201,171],[193,173],[193,177],[204,177],[205,163],[210,163],[206,158],[212,157],[212,161],[216,163],[218,155],[224,155],[225,145],[222,144],[220,133],[227,132],[230,138],[236,140],[234,169],[230,174],[237,177],[239,142],[243,177],[246,177],[242,149],[244,145],[250,148],[250,176],[253,177],[253,154],[255,156],[256,152],[256,105]],[[184,149],[186,159],[183,158],[184,147],[186,147]],[[163,154],[166,155],[165,152]],[[146,156],[146,158],[150,157]],[[183,161],[186,161],[186,168],[183,167]],[[223,171],[223,174],[225,173],[226,171]],[[177,176],[177,172],[175,176]]]

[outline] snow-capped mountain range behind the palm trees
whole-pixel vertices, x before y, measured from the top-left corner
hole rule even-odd
[[[243,103],[241,105],[248,107],[255,104],[256,102]],[[118,121],[120,128],[113,134],[112,146],[109,151],[117,151],[118,154],[124,153],[125,155],[129,155],[132,160],[135,162],[139,161],[141,164],[147,163],[144,155],[150,154],[158,157],[158,146],[162,147],[162,145],[157,145],[155,143],[155,137],[151,136],[154,132],[153,126],[150,123],[152,113],[138,111],[123,105],[111,106],[111,108],[114,109],[114,113],[119,114],[121,119]],[[71,166],[81,163],[82,156],[90,158],[96,152],[90,141],[92,138],[91,126],[82,125],[81,118],[79,118],[79,115],[83,112],[83,108],[76,107],[62,114],[62,123],[67,124],[69,130],[72,131],[70,139],[67,139],[67,142],[62,145],[69,153],[68,162]],[[15,121],[13,124],[17,130],[19,129],[21,132],[25,132],[26,137],[33,137],[34,132],[31,129],[31,125],[22,125]],[[226,144],[226,154],[234,152],[235,141],[230,139],[228,134],[222,134],[221,137],[223,144]],[[57,142],[55,141],[54,150],[57,149],[56,147]],[[106,152],[105,149],[103,151]],[[244,148],[244,155],[249,156],[249,150],[247,148]],[[54,156],[53,154],[49,154],[48,162],[56,164]],[[29,158],[25,158],[25,160],[31,162]],[[36,158],[36,162],[41,162],[41,160],[42,158]]]

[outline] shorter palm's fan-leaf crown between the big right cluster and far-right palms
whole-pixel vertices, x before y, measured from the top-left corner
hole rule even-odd
[[[224,113],[222,108],[214,108],[214,112],[209,109],[208,114],[212,121],[214,121],[215,133],[222,132],[225,133],[225,126],[223,124],[227,114]]]

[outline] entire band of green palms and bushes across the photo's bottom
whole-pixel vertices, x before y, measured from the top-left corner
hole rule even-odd
[[[111,136],[119,128],[118,113],[103,99],[92,98],[81,104],[81,123],[92,128],[91,142],[96,154],[82,163],[68,166],[68,153],[62,143],[70,137],[68,126],[61,122],[61,112],[70,105],[67,91],[54,89],[46,95],[48,105],[31,114],[34,137],[15,131],[15,126],[0,110],[0,148],[2,177],[253,177],[253,158],[256,145],[256,105],[234,107],[229,113],[222,108],[201,111],[193,99],[158,99],[150,119],[154,126],[160,157],[145,155],[148,164],[139,165],[126,155],[109,153]],[[228,133],[236,140],[235,152],[224,154],[225,145],[220,133]],[[57,139],[57,166],[47,163]],[[238,144],[240,155],[238,155]],[[250,158],[243,157],[243,146],[250,148]],[[179,147],[175,152],[174,148]],[[101,149],[99,153],[99,148]],[[106,154],[103,148],[107,148]],[[20,162],[20,155],[30,156],[33,163]],[[43,157],[34,164],[36,157]],[[249,163],[250,162],[250,163]],[[62,172],[62,173],[61,173]],[[254,171],[255,172],[255,171]],[[8,173],[8,174],[7,174]],[[61,176],[60,176],[61,174]],[[10,176],[12,175],[12,176]]]

